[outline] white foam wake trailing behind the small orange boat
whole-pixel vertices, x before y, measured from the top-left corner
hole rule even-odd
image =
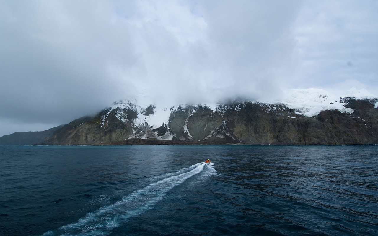
[[[206,164],[200,162],[191,167],[178,170],[173,173],[175,174],[174,176],[167,177],[145,188],[134,191],[112,205],[101,207],[99,210],[88,213],[75,223],[64,225],[56,231],[48,231],[42,234],[42,236],[107,235],[112,228],[118,227],[125,219],[137,216],[149,210],[152,205],[162,199],[171,188],[181,184],[195,174],[200,173],[205,166],[210,167],[212,172],[216,172],[216,170],[212,168],[212,165],[212,163]]]

